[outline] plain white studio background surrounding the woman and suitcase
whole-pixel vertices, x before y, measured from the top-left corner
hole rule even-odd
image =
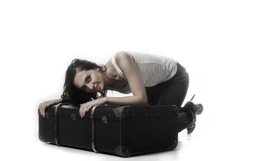
[[[255,8],[253,0],[1,1],[1,160],[254,160]],[[105,64],[118,51],[186,68],[183,105],[193,94],[204,105],[195,131],[180,132],[173,151],[132,158],[39,141],[38,105],[60,98],[71,61]]]

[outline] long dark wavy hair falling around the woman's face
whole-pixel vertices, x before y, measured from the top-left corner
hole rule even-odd
[[[76,69],[78,71],[83,71],[83,70],[91,70],[91,69],[99,68],[99,70],[102,71],[103,66],[105,65],[103,64],[97,65],[96,63],[90,62],[87,60],[73,59],[66,71],[64,91],[63,91],[63,94],[61,95],[61,98],[64,98],[65,100],[69,100],[68,102],[80,105],[88,101],[106,97],[107,90],[103,90],[101,92],[101,95],[99,96],[98,92],[88,93],[84,90],[76,88],[75,85],[73,84],[73,80],[76,75]],[[105,66],[105,69],[107,69],[106,66]],[[102,71],[102,72],[105,72],[105,71]]]

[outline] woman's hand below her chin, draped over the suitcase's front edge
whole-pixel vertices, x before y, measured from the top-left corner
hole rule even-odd
[[[81,118],[85,116],[85,112],[90,110],[91,107],[93,107],[95,105],[105,105],[106,102],[107,102],[107,98],[103,97],[100,99],[95,99],[93,101],[86,102],[84,104],[80,104],[79,113],[80,113]]]

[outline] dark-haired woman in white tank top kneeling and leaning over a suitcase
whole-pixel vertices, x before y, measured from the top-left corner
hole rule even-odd
[[[202,113],[203,106],[189,101],[181,108],[188,87],[189,75],[174,59],[121,51],[105,65],[74,59],[66,71],[61,99],[42,102],[38,108],[44,117],[46,107],[73,102],[81,106],[79,113],[83,117],[94,105],[176,105],[180,112],[179,132],[187,128],[192,133],[196,114]],[[133,96],[106,97],[107,90]]]

